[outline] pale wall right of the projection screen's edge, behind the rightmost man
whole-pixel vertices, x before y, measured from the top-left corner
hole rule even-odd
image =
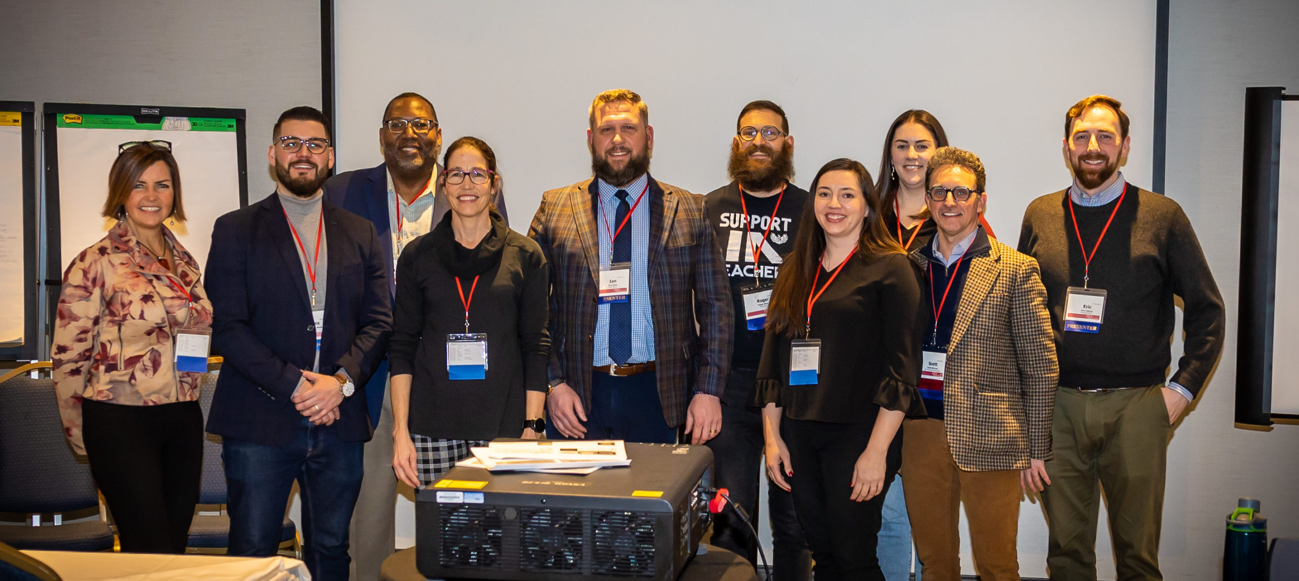
[[[1228,334],[1212,381],[1168,451],[1160,559],[1170,580],[1220,578],[1224,519],[1238,497],[1263,500],[1270,537],[1299,537],[1299,426],[1233,426],[1244,87],[1285,86],[1299,94],[1296,29],[1299,3],[1290,0],[1172,3],[1167,194],[1186,209],[1204,247],[1226,300]]]

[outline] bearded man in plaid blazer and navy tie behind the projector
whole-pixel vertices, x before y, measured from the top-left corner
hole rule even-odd
[[[674,443],[685,426],[703,443],[721,430],[733,341],[704,198],[650,177],[653,127],[635,92],[596,96],[587,143],[595,178],[543,194],[529,230],[551,268],[547,434]],[[617,305],[598,303],[596,278],[626,238],[633,344],[618,361]]]

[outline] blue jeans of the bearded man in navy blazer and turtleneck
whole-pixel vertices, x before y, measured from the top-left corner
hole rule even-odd
[[[348,525],[361,491],[364,442],[339,442],[304,417],[294,439],[264,446],[222,439],[230,555],[270,556],[279,547],[294,481],[303,495],[303,560],[317,581],[347,581]]]

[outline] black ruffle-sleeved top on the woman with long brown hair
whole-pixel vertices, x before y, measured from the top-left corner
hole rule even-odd
[[[822,268],[818,290],[831,273]],[[918,270],[907,255],[859,251],[812,308],[809,337],[821,339],[817,383],[788,385],[791,339],[768,330],[753,403],[835,424],[874,422],[881,406],[922,417],[920,299]]]

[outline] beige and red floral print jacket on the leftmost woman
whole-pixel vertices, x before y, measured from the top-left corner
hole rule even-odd
[[[182,326],[210,329],[212,303],[194,256],[166,226],[162,235],[177,263],[174,274],[126,221],[64,272],[51,359],[64,434],[78,454],[86,454],[82,399],[125,406],[199,399],[199,373],[175,370],[173,335]]]

